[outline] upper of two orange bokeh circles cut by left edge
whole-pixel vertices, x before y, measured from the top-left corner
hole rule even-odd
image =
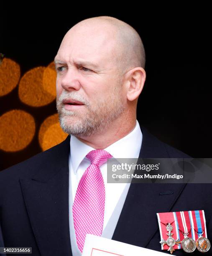
[[[12,59],[4,58],[0,66],[0,96],[7,95],[18,84],[20,66]]]

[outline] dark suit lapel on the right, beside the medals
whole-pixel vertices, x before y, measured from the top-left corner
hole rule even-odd
[[[141,128],[143,141],[139,158],[169,158],[163,143]],[[146,247],[158,230],[157,212],[169,212],[185,184],[131,183],[113,240]],[[171,191],[169,195],[160,193]]]

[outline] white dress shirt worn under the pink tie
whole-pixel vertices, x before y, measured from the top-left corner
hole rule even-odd
[[[142,133],[138,120],[136,125],[128,135],[116,141],[112,145],[105,148],[113,158],[136,158],[138,159],[142,143]],[[85,157],[90,151],[94,150],[91,146],[79,141],[78,138],[71,135],[70,139],[70,154],[69,154],[69,230],[71,238],[71,247],[73,256],[80,256],[74,230],[74,222],[72,215],[72,205],[77,192],[79,181],[91,164]],[[102,177],[105,182],[105,214],[102,236],[112,238],[117,220],[125,201],[129,183],[107,183],[107,162],[100,166]],[[115,193],[114,193],[115,191]],[[116,207],[119,206],[119,207]],[[121,207],[121,209],[119,209]],[[116,210],[115,210],[116,209]],[[110,222],[109,222],[110,220]],[[109,223],[108,223],[109,222]],[[108,225],[107,225],[108,224]],[[106,228],[107,226],[107,228]],[[104,232],[105,231],[105,232]],[[104,235],[105,234],[105,235]]]

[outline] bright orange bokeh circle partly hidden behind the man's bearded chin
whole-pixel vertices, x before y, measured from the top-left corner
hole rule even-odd
[[[42,150],[45,151],[64,141],[67,136],[68,134],[64,133],[60,127],[58,114],[54,114],[46,118],[41,124],[38,140]]]

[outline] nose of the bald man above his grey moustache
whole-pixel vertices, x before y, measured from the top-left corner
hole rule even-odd
[[[79,82],[79,73],[77,69],[69,68],[67,69],[66,73],[60,79],[61,87],[64,90],[71,91],[71,90],[79,90],[80,82]]]

